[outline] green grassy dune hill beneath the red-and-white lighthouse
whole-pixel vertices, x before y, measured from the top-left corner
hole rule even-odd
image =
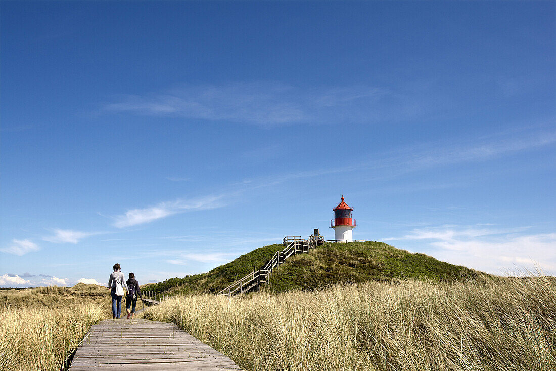
[[[210,272],[175,278],[147,285],[145,290],[157,292],[216,292],[262,267],[282,245],[270,245],[248,252]],[[433,279],[443,281],[474,277],[478,272],[452,265],[421,253],[410,253],[383,242],[325,243],[290,257],[272,272],[272,291],[315,289],[341,282],[364,282],[393,279]]]

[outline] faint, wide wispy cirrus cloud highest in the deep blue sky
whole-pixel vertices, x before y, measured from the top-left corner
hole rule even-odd
[[[301,88],[279,82],[188,85],[145,95],[127,95],[105,111],[179,116],[257,125],[331,123],[388,119],[408,106],[400,94],[375,86]],[[383,98],[388,97],[384,100]],[[395,106],[398,105],[397,109]]]

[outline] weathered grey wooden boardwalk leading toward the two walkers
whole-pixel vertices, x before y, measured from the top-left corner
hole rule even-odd
[[[241,370],[178,326],[143,319],[106,320],[93,326],[69,371],[92,369]]]

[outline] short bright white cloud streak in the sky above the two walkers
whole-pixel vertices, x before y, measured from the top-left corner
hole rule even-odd
[[[132,209],[123,215],[116,216],[116,222],[113,225],[118,228],[125,228],[137,224],[150,223],[157,219],[186,211],[214,209],[224,206],[222,198],[224,196],[209,196],[191,200],[179,199],[172,202],[161,202],[152,207]]]

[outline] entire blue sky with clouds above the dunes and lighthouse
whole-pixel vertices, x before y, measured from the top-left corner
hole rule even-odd
[[[0,3],[0,286],[285,235],[556,274],[554,2]]]

